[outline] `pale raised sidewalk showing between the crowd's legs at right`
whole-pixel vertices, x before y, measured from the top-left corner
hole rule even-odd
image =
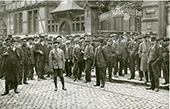
[[[84,73],[83,73],[84,74]],[[161,73],[163,74],[163,73]],[[84,74],[85,75],[85,74]],[[96,74],[95,74],[95,70],[92,70],[91,72],[91,75],[92,77],[95,77]],[[108,72],[106,71],[106,77],[108,77]],[[147,83],[147,84],[144,84],[145,82],[145,78],[143,77],[143,81],[139,81],[140,78],[139,78],[139,74],[138,74],[138,71],[135,72],[135,79],[131,79],[129,80],[128,78],[130,78],[130,71],[128,70],[128,74],[124,75],[124,76],[118,76],[117,78],[114,77],[114,75],[112,74],[112,82],[118,82],[118,83],[132,83],[132,84],[135,84],[135,85],[145,85],[145,86],[150,86],[151,83]],[[159,88],[160,89],[166,89],[166,90],[169,90],[169,84],[166,84],[166,85],[163,85],[162,83],[164,83],[164,78],[163,78],[163,75],[161,75],[161,78],[159,78]]]

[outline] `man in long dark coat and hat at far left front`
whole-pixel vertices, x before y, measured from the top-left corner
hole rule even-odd
[[[9,85],[14,85],[14,92],[17,91],[18,86],[18,70],[21,68],[19,52],[14,45],[14,39],[11,35],[6,38],[7,48],[4,51],[5,64],[3,66],[5,75],[5,92],[2,94],[6,95],[9,93]]]

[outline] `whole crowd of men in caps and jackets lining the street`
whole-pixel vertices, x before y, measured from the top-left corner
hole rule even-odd
[[[35,37],[13,37],[8,35],[0,39],[0,77],[5,78],[5,93],[19,84],[28,84],[29,79],[38,80],[53,77],[57,91],[57,76],[60,77],[62,89],[65,76],[74,81],[82,79],[91,81],[91,70],[95,68],[96,84],[105,86],[106,72],[109,81],[124,76],[130,70],[135,78],[136,70],[140,81],[151,82],[147,90],[159,91],[159,78],[163,71],[164,84],[169,84],[169,41],[168,37],[160,38],[157,34],[123,33],[107,36],[57,36],[39,35]],[[35,69],[35,71],[34,71]]]

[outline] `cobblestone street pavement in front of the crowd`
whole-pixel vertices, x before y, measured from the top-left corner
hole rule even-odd
[[[84,78],[83,78],[84,79]],[[19,94],[13,90],[0,96],[0,109],[169,109],[169,91],[145,90],[144,86],[106,82],[105,88],[94,87],[83,80],[74,82],[65,77],[67,91],[54,91],[52,79],[29,80],[28,85],[19,85]],[[4,80],[0,80],[0,93]]]

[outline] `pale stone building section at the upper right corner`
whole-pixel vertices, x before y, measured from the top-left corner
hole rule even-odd
[[[142,32],[152,31],[159,37],[170,36],[168,1],[143,2]]]

